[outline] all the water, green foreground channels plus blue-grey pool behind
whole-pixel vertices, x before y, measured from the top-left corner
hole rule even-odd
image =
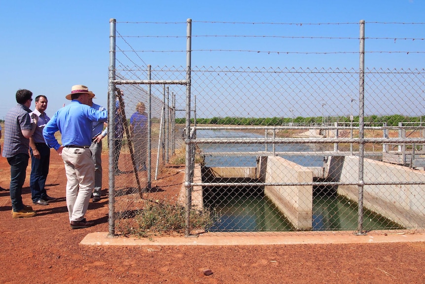
[[[198,130],[198,138],[262,138],[253,133],[231,130]],[[199,145],[205,152],[253,152],[265,151],[260,144],[210,144]],[[268,150],[272,149],[268,145]],[[278,151],[317,151],[317,145],[280,144]],[[322,149],[320,151],[323,151]],[[321,156],[282,156],[303,166],[323,166]],[[255,166],[253,156],[206,156],[207,167]],[[215,216],[211,232],[281,232],[294,228],[285,216],[264,196],[259,187],[251,188],[204,188],[204,204]],[[371,211],[365,210],[363,228],[366,230],[398,229],[397,224]],[[327,190],[316,190],[313,194],[312,225],[314,231],[356,230],[357,203],[349,201]]]

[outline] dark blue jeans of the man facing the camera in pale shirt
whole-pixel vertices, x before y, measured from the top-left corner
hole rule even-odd
[[[33,149],[30,148],[31,153],[31,176],[30,188],[31,198],[33,202],[39,199],[46,199],[47,193],[44,185],[46,184],[47,175],[49,173],[50,164],[50,148],[45,143],[35,143],[40,159],[34,157]]]

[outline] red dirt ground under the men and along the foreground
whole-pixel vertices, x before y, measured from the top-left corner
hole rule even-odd
[[[164,194],[180,188],[183,174],[173,170],[155,184]],[[104,173],[106,189],[106,162]],[[0,157],[0,186],[8,189],[9,178]],[[33,206],[34,218],[12,219],[9,191],[0,191],[0,283],[425,283],[425,243],[83,246],[88,233],[107,232],[107,197],[90,203],[86,217],[96,226],[71,230],[65,185],[62,159],[52,151],[47,189],[57,201]],[[205,276],[206,269],[213,274]]]

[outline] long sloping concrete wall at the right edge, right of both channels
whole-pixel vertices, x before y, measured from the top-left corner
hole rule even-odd
[[[358,182],[358,157],[331,157],[329,181]],[[364,182],[425,182],[425,171],[364,159]],[[358,186],[338,186],[337,193],[358,202]],[[364,185],[363,205],[407,228],[425,227],[425,185]]]

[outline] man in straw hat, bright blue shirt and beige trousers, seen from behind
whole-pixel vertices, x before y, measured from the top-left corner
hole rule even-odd
[[[54,148],[65,163],[67,174],[67,207],[71,229],[95,225],[84,218],[89,206],[95,182],[95,165],[91,158],[92,123],[106,122],[107,111],[97,111],[88,106],[94,96],[84,85],[74,85],[66,98],[71,103],[58,110],[43,129],[43,137],[50,148]],[[55,132],[62,134],[62,145]]]

